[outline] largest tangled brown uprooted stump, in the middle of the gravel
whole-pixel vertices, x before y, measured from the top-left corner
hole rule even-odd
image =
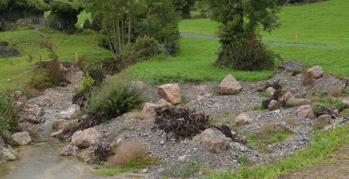
[[[209,115],[196,113],[195,110],[190,110],[186,106],[158,109],[155,118],[155,124],[163,132],[166,132],[167,135],[173,134],[175,137],[191,137],[208,128],[215,127],[234,142],[247,144],[246,140],[240,139],[237,134],[232,134],[228,126],[215,126],[210,122]]]

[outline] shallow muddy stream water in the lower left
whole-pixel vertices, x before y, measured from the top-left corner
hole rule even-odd
[[[0,179],[83,179],[88,166],[75,156],[60,156],[67,144],[50,137],[59,111],[45,109],[46,122],[32,135],[32,144],[18,147],[18,160],[0,166]]]

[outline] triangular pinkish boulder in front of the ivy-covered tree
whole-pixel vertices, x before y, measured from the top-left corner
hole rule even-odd
[[[231,95],[237,94],[242,90],[242,87],[235,78],[229,74],[224,77],[223,81],[215,89],[218,94]]]

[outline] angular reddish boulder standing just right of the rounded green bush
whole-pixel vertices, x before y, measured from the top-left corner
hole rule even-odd
[[[178,84],[162,85],[158,88],[158,94],[173,105],[181,102]]]

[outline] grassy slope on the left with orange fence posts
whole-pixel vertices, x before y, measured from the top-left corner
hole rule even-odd
[[[104,49],[96,46],[93,49],[91,35],[67,35],[62,32],[44,29],[42,32],[37,30],[19,30],[13,32],[0,32],[0,39],[8,41],[11,44],[16,44],[16,48],[20,51],[20,55],[16,57],[0,57],[0,89],[15,90],[17,87],[24,86],[29,80],[35,76],[35,72],[27,73],[19,78],[7,81],[6,79],[15,77],[31,68],[28,62],[28,55],[34,56],[33,63],[39,60],[48,60],[48,53],[45,49],[40,49],[40,42],[47,37],[51,39],[54,44],[54,50],[60,57],[60,60],[74,61],[75,52],[78,54],[103,51]],[[102,53],[102,56],[109,55]],[[70,56],[67,58],[66,56]],[[95,54],[95,57],[101,54]]]

